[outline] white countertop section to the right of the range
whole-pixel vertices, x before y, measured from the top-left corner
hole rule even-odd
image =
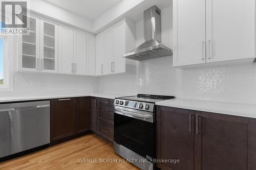
[[[256,105],[203,100],[170,99],[156,105],[256,118]]]

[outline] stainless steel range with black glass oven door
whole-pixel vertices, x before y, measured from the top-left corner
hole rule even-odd
[[[148,94],[115,98],[114,151],[141,169],[154,169],[155,102],[174,98],[174,96]]]

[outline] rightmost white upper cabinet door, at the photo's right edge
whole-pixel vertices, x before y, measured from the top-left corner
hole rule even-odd
[[[206,0],[207,62],[255,57],[255,0]]]

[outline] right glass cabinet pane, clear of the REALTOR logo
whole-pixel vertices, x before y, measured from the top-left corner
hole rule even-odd
[[[55,25],[44,22],[44,69],[55,70]]]

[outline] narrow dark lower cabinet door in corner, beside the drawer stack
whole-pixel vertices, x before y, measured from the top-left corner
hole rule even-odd
[[[91,97],[91,131],[98,133],[98,100]]]

